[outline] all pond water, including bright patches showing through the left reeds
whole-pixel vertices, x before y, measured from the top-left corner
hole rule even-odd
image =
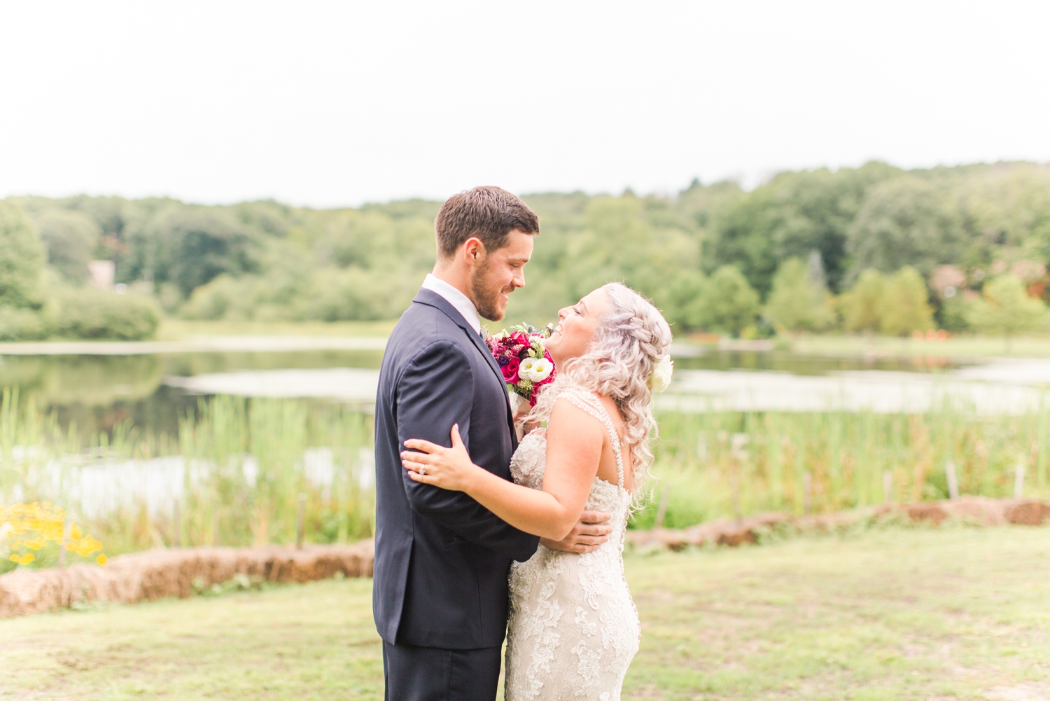
[[[256,338],[195,347],[81,344],[68,353],[55,352],[63,350],[57,345],[14,349],[19,352],[0,345],[0,388],[17,388],[21,401],[33,397],[38,406],[56,411],[62,424],[76,421],[81,435],[111,431],[130,419],[154,435],[174,436],[180,417],[215,394],[297,397],[369,411],[382,360],[381,339],[371,341],[290,344]],[[28,352],[33,350],[43,352]],[[1050,360],[1046,359],[978,364],[698,346],[677,346],[673,353],[674,384],[657,397],[657,407],[664,411],[898,413],[959,401],[979,412],[1009,414],[1038,409],[1050,387]],[[350,478],[366,492],[374,474],[372,451],[366,446],[354,450],[360,454],[352,460]],[[81,457],[77,470],[51,461],[37,477],[52,483],[48,494],[64,495],[64,502],[79,504],[80,512],[89,517],[116,513],[128,503],[141,503],[153,515],[170,515],[173,500],[184,500],[187,484],[192,487],[196,474],[187,472],[188,463],[178,455],[147,460]],[[253,483],[254,458],[245,456],[242,467],[246,480]],[[331,487],[336,469],[333,451],[307,449],[302,468],[311,483]],[[20,489],[16,484],[15,498]]]

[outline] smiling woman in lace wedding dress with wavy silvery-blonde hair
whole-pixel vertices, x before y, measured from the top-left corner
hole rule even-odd
[[[590,553],[543,545],[510,572],[506,699],[620,699],[638,650],[637,610],[624,577],[624,533],[652,462],[654,383],[666,386],[671,330],[642,295],[616,283],[559,312],[547,341],[556,379],[526,417],[546,421],[510,462],[514,483],[479,468],[453,427],[453,447],[405,440],[414,480],[466,492],[511,525],[564,538],[584,509],[612,514]]]

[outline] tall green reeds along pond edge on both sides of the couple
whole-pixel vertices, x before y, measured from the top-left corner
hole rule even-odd
[[[910,415],[658,418],[652,470],[658,479],[634,528],[944,498],[949,461],[963,494],[1010,496],[1020,466],[1025,495],[1050,497],[1047,405],[1013,416],[946,406]],[[51,501],[114,555],[158,545],[293,542],[302,495],[306,539],[348,541],[373,532],[372,434],[370,414],[339,405],[216,396],[187,412],[175,436],[129,422],[82,435],[76,424],[63,428],[32,399],[4,392],[0,503]],[[141,481],[148,475],[156,478]],[[51,563],[42,557],[36,564]]]

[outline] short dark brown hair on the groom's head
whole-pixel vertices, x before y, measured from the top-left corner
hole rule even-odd
[[[518,229],[540,233],[540,218],[518,197],[502,187],[484,185],[463,190],[445,200],[434,220],[438,256],[448,257],[464,241],[477,236],[491,253],[507,245],[507,236]]]

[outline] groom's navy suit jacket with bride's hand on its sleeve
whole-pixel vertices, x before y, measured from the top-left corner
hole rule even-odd
[[[452,446],[510,479],[518,447],[506,385],[481,337],[440,294],[421,289],[386,343],[376,396],[376,560],[372,595],[388,643],[474,650],[503,643],[511,560],[539,537],[463,492],[407,476],[408,438]]]

